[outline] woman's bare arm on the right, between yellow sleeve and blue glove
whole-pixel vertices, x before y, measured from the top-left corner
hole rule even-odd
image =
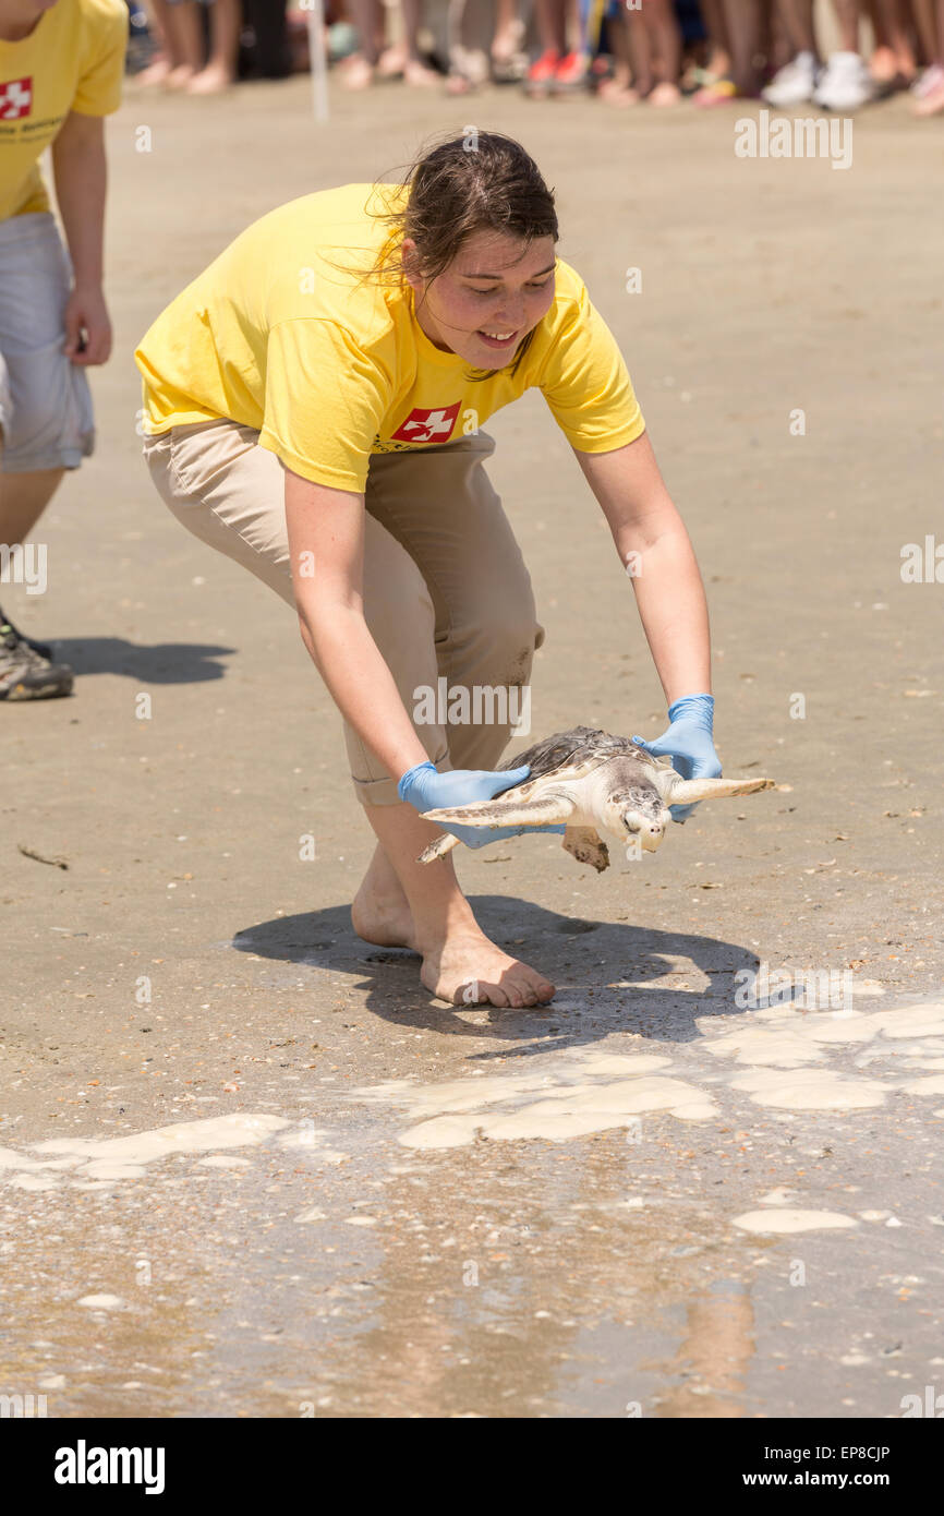
[[[711,694],[705,587],[647,434],[611,453],[574,452],[609,522],[620,559],[624,567],[630,564],[639,619],[667,705],[695,691]]]

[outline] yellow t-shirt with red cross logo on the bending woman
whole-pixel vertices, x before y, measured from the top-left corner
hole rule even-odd
[[[553,305],[514,377],[512,359],[476,381],[467,359],[441,352],[408,283],[356,287],[391,236],[365,206],[399,206],[405,194],[344,185],[247,227],[141,340],[144,431],[229,417],[303,479],[356,493],[371,453],[458,441],[532,387],[582,452],[639,437],[615,338],[561,259]]]

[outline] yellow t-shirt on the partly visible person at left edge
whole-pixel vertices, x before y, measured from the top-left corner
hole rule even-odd
[[[39,155],[70,111],[121,105],[124,0],[58,0],[20,42],[0,39],[0,221],[48,211]]]

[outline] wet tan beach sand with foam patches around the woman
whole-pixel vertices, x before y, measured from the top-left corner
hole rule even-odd
[[[305,80],[129,92],[108,124],[98,452],[42,525],[48,593],[5,590],[79,679],[3,711],[0,1390],[67,1417],[900,1416],[942,1383],[944,587],[900,575],[939,532],[939,132],[891,102],[835,171],[735,158],[736,111],[332,108],[317,129]],[[135,341],[247,221],[468,121],[556,186],[699,552],[721,758],[780,785],[602,876],[558,838],[459,849],[485,928],[559,985],[542,1011],[449,1008],[353,934],[371,838],[330,699],[135,437]],[[488,431],[547,628],[527,740],[656,735],[562,434],[533,394]],[[853,1014],[746,1008],[759,961],[852,975]]]

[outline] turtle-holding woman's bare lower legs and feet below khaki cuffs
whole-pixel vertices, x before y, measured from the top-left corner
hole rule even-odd
[[[488,940],[459,888],[452,854],[417,863],[439,828],[412,805],[365,811],[379,849],[352,907],[358,935],[421,954],[423,984],[453,1005],[547,1004],[555,985]]]

